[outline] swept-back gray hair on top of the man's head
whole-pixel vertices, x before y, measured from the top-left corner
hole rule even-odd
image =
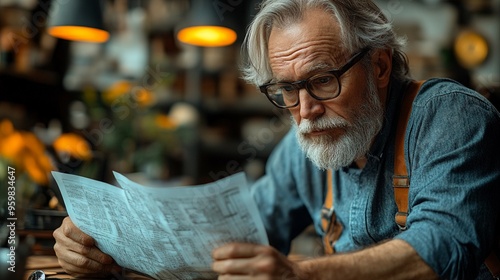
[[[396,36],[391,23],[372,1],[264,0],[243,43],[246,59],[241,70],[247,82],[261,85],[272,78],[267,53],[271,29],[300,21],[311,8],[328,11],[339,22],[344,51],[353,53],[365,47],[389,49],[392,51],[391,76],[407,78],[408,60],[402,51],[405,41]]]

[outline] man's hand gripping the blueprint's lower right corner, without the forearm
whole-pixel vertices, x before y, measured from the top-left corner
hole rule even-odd
[[[270,246],[230,243],[212,252],[219,279],[308,279],[299,266]]]

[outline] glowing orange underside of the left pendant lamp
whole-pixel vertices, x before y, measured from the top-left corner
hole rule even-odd
[[[71,41],[103,43],[109,38],[107,31],[83,26],[54,26],[48,32],[54,37]]]

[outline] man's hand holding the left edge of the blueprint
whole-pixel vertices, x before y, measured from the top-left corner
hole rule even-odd
[[[121,270],[113,258],[101,252],[94,239],[77,228],[69,217],[63,220],[53,235],[59,264],[72,276],[107,276]]]

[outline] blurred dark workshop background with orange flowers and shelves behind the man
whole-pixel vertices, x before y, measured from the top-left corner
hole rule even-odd
[[[376,3],[407,38],[415,79],[453,78],[498,108],[499,0]],[[118,171],[158,186],[240,171],[249,181],[262,176],[290,117],[240,78],[240,48],[258,4],[0,0],[0,181],[16,168],[21,227],[60,224],[52,170],[109,183]],[[57,29],[58,20],[94,30]],[[205,20],[227,33],[211,41],[184,29]]]

